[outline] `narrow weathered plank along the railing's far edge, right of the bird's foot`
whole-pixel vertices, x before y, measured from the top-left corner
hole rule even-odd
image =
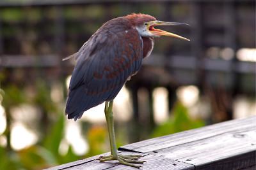
[[[230,120],[220,124],[209,125],[206,127],[193,129],[190,131],[179,132],[176,134],[162,136],[159,138],[148,139],[137,143],[122,146],[121,148],[136,152],[152,152],[171,146],[183,145],[223,133],[239,132],[241,129],[252,129],[256,127],[256,116],[245,119]]]

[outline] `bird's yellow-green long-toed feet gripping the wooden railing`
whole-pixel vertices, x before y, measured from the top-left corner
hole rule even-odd
[[[121,155],[121,154],[118,154],[117,157],[114,157],[113,155],[100,156],[98,160],[100,160],[100,162],[105,162],[105,161],[108,161],[108,160],[118,160],[118,162],[120,164],[140,168],[141,166],[134,165],[134,164],[143,164],[144,162],[146,162],[145,160],[138,160],[141,157],[142,157],[142,155]]]

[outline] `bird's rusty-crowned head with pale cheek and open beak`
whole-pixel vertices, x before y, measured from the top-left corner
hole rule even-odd
[[[139,34],[144,37],[159,37],[159,36],[170,36],[173,38],[184,39],[190,41],[187,38],[173,34],[172,32],[163,31],[156,29],[158,25],[188,25],[178,22],[163,22],[156,20],[155,17],[146,14],[131,14],[126,16],[132,23],[132,25],[138,30]]]

